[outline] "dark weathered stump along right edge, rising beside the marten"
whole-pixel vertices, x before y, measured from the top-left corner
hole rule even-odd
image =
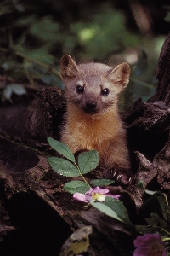
[[[142,179],[145,185],[152,179],[157,180],[161,189],[170,189],[170,177],[168,174],[170,171],[169,70],[170,33],[162,46],[158,61],[156,70],[158,86],[155,96],[148,102],[138,101],[134,103],[130,112],[127,113],[129,140],[133,145],[133,149],[140,152],[137,154],[139,159],[137,180]]]

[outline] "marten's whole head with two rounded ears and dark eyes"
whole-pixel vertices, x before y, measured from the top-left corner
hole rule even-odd
[[[90,114],[116,105],[119,93],[128,84],[129,74],[130,67],[125,62],[114,68],[101,63],[77,65],[70,55],[64,55],[60,64],[67,101]]]

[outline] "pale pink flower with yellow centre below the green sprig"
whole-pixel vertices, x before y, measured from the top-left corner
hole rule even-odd
[[[77,201],[89,202],[89,201],[105,201],[106,196],[111,196],[112,198],[119,199],[120,195],[111,195],[109,189],[100,189],[96,187],[94,189],[90,188],[85,194],[75,193],[73,198]]]

